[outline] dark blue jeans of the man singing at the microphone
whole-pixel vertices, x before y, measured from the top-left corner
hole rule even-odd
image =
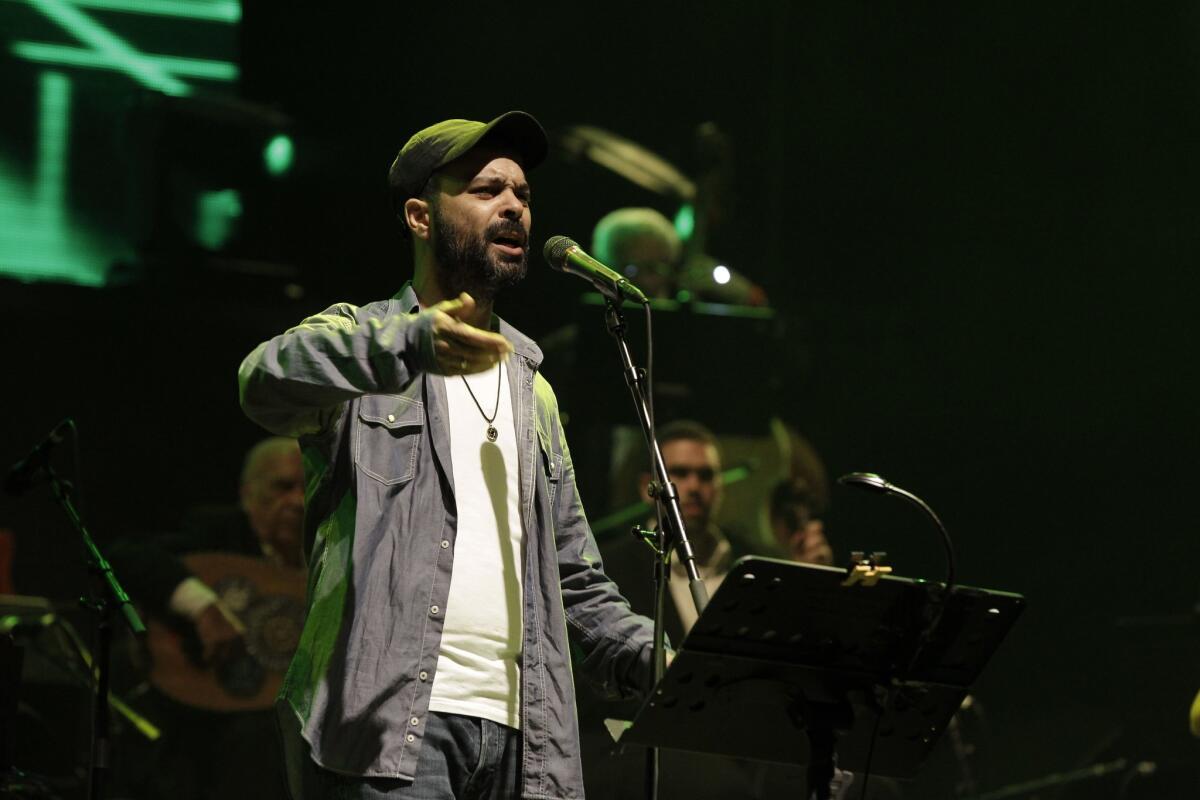
[[[329,800],[508,800],[521,792],[521,733],[508,726],[431,711],[416,778],[320,772]]]

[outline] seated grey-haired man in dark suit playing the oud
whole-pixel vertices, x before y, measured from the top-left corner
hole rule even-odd
[[[162,639],[178,639],[184,650],[193,645],[186,658],[179,658],[185,666],[176,670],[180,674],[163,674],[163,666],[155,664],[151,686],[133,702],[163,734],[154,745],[122,744],[118,772],[131,794],[148,800],[287,796],[270,710],[272,685],[259,687],[258,675],[251,685],[257,691],[247,694],[234,688],[224,698],[221,681],[211,678],[228,668],[235,673],[234,685],[246,682],[246,670],[239,666],[247,658],[247,621],[239,616],[246,609],[222,600],[196,572],[204,559],[211,564],[216,558],[222,569],[233,565],[234,572],[245,564],[248,572],[282,576],[289,585],[294,581],[302,594],[302,528],[300,449],[295,439],[276,437],[259,441],[246,455],[238,506],[199,509],[186,515],[178,533],[113,546],[109,560],[148,616],[151,658],[161,656],[156,650]],[[212,554],[234,558],[222,561]],[[211,575],[206,577],[212,581]],[[240,589],[242,597],[252,591]],[[286,666],[290,651],[280,655]],[[205,681],[194,692],[187,684],[193,679]],[[217,702],[210,702],[214,696]],[[143,752],[139,746],[150,750]]]

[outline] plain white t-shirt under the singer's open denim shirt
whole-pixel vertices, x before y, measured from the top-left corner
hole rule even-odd
[[[521,726],[523,529],[509,371],[445,378],[458,534],[430,710]],[[497,407],[497,383],[499,404]]]

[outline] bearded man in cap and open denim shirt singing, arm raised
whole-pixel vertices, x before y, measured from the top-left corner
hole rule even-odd
[[[650,624],[600,569],[541,351],[492,311],[546,150],[522,112],[418,132],[389,172],[412,283],[241,365],[246,414],[305,461],[296,800],[580,798],[568,636],[602,691],[647,685]]]

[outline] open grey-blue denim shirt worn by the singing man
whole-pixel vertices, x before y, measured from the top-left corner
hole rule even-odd
[[[246,414],[298,437],[304,455],[308,612],[278,699],[298,800],[311,762],[412,778],[421,748],[457,519],[445,383],[426,373],[431,318],[418,311],[408,285],[361,308],[332,306],[239,371]],[[629,697],[648,681],[650,622],[605,577],[541,351],[493,321],[515,348],[522,796],[582,798],[568,637],[601,692]]]

